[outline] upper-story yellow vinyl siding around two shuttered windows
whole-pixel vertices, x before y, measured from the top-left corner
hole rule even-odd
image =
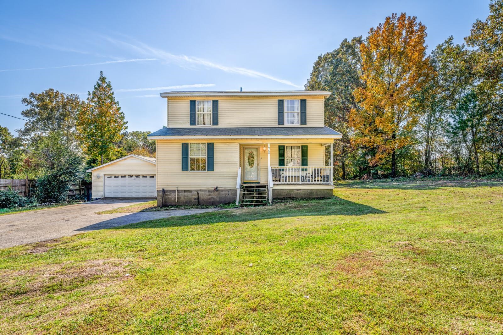
[[[306,99],[306,125],[278,125],[278,100]],[[167,99],[167,117],[170,128],[190,126],[189,101],[196,99]],[[323,97],[267,97],[267,98],[200,98],[218,100],[218,126],[215,127],[323,127]]]

